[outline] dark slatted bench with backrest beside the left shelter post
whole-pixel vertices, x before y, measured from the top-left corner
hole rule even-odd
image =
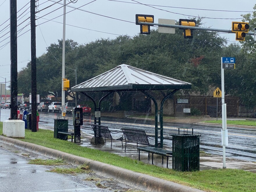
[[[105,145],[106,145],[106,138],[109,138],[109,139],[111,139],[111,147],[110,147],[111,149],[112,149],[112,140],[122,141],[122,149],[124,148],[123,147],[123,137],[111,135],[111,134],[120,133],[122,131],[113,133],[113,132],[109,131],[109,128],[107,126],[95,125],[95,124],[91,124],[91,126],[93,127],[95,137],[104,137]]]

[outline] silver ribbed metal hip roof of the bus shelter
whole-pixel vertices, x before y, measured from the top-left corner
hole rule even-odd
[[[122,64],[72,87],[71,91],[140,91],[190,88],[191,83]]]

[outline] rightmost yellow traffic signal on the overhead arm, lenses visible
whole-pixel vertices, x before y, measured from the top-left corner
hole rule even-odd
[[[236,33],[237,41],[244,41],[246,33],[249,32],[249,23],[246,22],[232,22],[232,32]]]

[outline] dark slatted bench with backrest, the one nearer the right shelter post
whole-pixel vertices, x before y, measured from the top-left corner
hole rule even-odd
[[[155,138],[148,137],[144,130],[123,128],[122,131],[125,136],[125,152],[126,152],[126,143],[137,143],[137,148],[138,148],[138,144],[152,146],[152,147],[155,146]],[[160,143],[158,143],[158,147],[159,146],[160,146]]]

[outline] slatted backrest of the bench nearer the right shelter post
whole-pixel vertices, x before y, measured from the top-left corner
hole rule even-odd
[[[124,132],[126,140],[149,145],[148,138],[144,130],[123,128],[122,131]]]

